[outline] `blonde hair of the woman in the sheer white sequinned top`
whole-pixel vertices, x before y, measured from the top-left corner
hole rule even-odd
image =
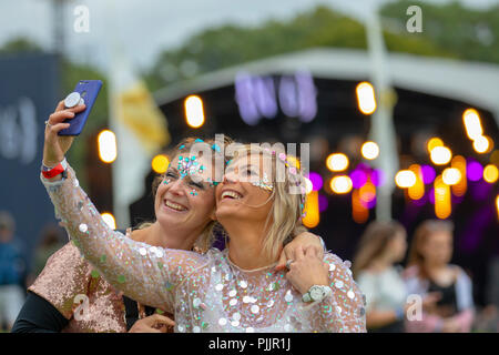
[[[272,200],[271,212],[265,221],[264,230],[267,231],[265,240],[263,242],[263,253],[271,260],[275,260],[279,253],[279,248],[283,244],[293,240],[299,233],[306,232],[306,227],[302,224],[302,210],[303,203],[302,194],[289,193],[293,186],[299,184],[305,186],[305,180],[299,169],[296,169],[296,174],[289,175],[287,162],[282,161],[277,156],[284,153],[284,150],[266,150],[261,146],[241,144],[241,148],[234,152],[234,158],[238,158],[240,153],[257,153],[262,156],[272,159],[272,166],[276,168],[272,170],[272,185],[273,191],[268,200]],[[285,169],[286,173],[283,179],[277,179],[278,166]],[[294,176],[293,179],[289,179]]]

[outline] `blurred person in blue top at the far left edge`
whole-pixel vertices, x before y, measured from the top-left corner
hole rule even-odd
[[[26,262],[14,245],[16,223],[0,211],[0,327],[10,329],[24,302]]]

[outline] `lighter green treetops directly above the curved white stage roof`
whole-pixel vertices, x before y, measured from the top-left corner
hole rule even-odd
[[[385,38],[391,51],[456,57],[452,50],[407,31],[385,31]],[[231,24],[207,29],[182,47],[162,52],[146,81],[156,90],[205,72],[318,47],[365,49],[364,24],[320,6],[291,20],[272,20],[257,28]]]

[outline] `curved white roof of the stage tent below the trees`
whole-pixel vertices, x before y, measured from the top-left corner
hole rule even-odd
[[[413,54],[389,53],[387,73],[394,87],[468,102],[492,112],[499,125],[499,65]],[[307,70],[317,78],[366,80],[371,63],[363,50],[313,49],[272,57],[207,73],[155,93],[161,104],[193,92],[231,85],[240,72],[292,74]]]

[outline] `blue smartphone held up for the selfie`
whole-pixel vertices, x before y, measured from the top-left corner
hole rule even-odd
[[[81,131],[83,131],[83,126],[86,123],[86,119],[90,115],[90,111],[92,111],[101,88],[101,80],[80,80],[78,82],[73,91],[80,93],[80,97],[83,99],[86,108],[77,113],[74,118],[65,120],[64,123],[70,123],[71,125],[59,131],[59,135],[79,135]]]

